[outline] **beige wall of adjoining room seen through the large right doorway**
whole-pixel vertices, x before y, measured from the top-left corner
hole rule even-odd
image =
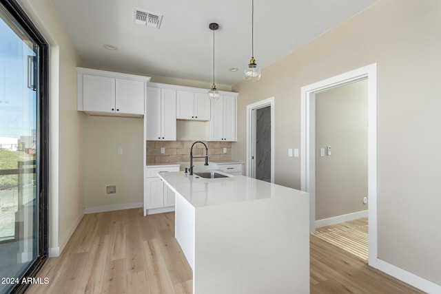
[[[316,94],[316,220],[367,210],[364,197],[367,80]]]

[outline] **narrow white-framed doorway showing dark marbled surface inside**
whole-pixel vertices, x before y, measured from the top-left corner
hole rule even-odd
[[[247,176],[274,182],[274,97],[247,105]]]

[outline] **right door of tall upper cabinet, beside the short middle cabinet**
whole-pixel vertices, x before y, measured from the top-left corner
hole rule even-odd
[[[161,90],[161,140],[176,141],[176,90]]]

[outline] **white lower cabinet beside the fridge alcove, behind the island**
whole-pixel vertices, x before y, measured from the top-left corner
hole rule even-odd
[[[179,171],[179,165],[145,167],[144,216],[174,211],[174,192],[158,177],[158,172],[167,171]]]

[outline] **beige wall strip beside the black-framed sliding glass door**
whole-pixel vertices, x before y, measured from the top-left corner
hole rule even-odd
[[[19,0],[50,44],[50,248],[63,250],[83,214],[83,115],[76,112],[78,54],[50,0]]]

